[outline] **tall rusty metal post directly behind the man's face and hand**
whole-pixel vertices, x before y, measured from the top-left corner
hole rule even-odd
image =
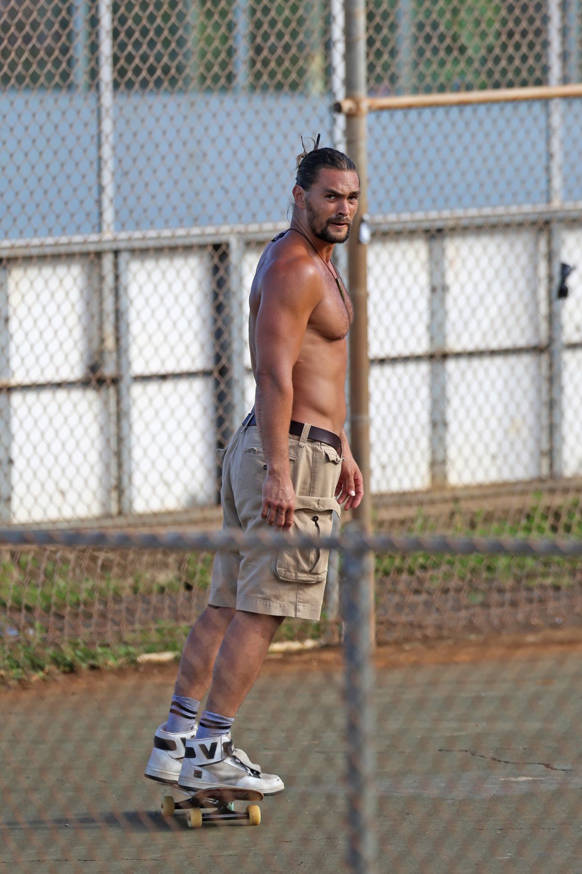
[[[346,0],[346,97],[357,109],[346,121],[346,149],[359,172],[359,210],[348,242],[348,288],[353,301],[354,320],[350,331],[350,440],[353,456],[364,478],[364,499],[354,517],[364,531],[372,530],[372,496],[370,494],[370,413],[369,360],[367,343],[367,270],[366,244],[360,242],[359,229],[367,212],[366,174],[366,3]],[[366,578],[373,594],[373,573]],[[370,614],[371,639],[374,640],[373,612]]]

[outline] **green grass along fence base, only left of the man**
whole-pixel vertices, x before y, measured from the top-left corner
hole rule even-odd
[[[67,558],[63,558],[63,554]],[[156,561],[151,567],[144,558],[135,569],[131,558],[126,566],[116,563],[109,555],[103,560],[93,560],[92,568],[83,572],[79,556],[69,556],[70,552],[61,551],[3,551],[0,616],[9,608],[12,614],[24,611],[30,617],[40,613],[41,619],[43,614],[58,617],[84,608],[90,614],[99,603],[112,605],[114,610],[116,602],[121,604],[127,596],[205,591],[210,585],[213,562],[209,553],[191,553],[179,559],[174,556],[167,565],[163,560]],[[6,625],[10,627],[10,618]],[[25,638],[21,635],[7,639],[2,647],[0,637],[0,680],[42,676],[56,670],[67,673],[118,667],[134,663],[142,653],[162,650],[175,651],[178,655],[187,634],[187,627],[159,622],[154,631],[132,632],[123,642],[97,644],[70,640],[50,645],[44,640],[43,622],[29,622]]]

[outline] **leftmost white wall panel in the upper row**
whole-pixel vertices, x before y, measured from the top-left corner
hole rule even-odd
[[[24,261],[8,270],[13,383],[86,376],[98,327],[97,272],[88,259]]]

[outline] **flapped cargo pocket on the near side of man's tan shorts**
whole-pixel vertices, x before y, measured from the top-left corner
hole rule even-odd
[[[312,538],[332,536],[333,513],[341,508],[334,497],[295,497],[292,532]],[[270,569],[284,582],[323,583],[327,576],[329,550],[318,546],[288,546],[273,556]]]

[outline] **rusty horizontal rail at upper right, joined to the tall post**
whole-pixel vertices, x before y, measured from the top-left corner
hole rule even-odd
[[[333,104],[335,112],[363,115],[387,109],[471,106],[477,103],[544,101],[555,98],[582,97],[582,83],[538,85],[525,88],[483,88],[476,91],[447,91],[435,94],[398,94],[387,97],[346,97]]]

